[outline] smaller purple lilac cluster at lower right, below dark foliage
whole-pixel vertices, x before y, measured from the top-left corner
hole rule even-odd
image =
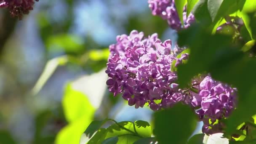
[[[191,101],[193,107],[200,107],[196,113],[204,123],[203,133],[222,132],[223,124],[218,121],[228,117],[235,109],[236,92],[236,88],[213,80],[210,76],[203,79],[199,85],[199,94]]]

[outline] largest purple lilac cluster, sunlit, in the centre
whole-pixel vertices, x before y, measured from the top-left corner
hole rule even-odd
[[[130,35],[117,36],[117,43],[109,46],[106,70],[109,91],[114,96],[122,94],[135,108],[148,102],[151,109],[158,110],[183,101],[184,91],[178,88],[176,72],[170,68],[174,60],[187,56],[176,59],[171,40],[162,43],[157,34],[143,37],[143,32],[134,30]]]

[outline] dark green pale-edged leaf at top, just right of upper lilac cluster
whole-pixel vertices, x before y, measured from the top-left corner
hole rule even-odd
[[[207,0],[199,0],[192,10],[195,15],[195,19],[205,25],[211,24],[211,15],[208,11]]]

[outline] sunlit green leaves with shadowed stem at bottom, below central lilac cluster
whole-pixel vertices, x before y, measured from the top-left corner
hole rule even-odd
[[[107,120],[114,122],[108,128],[100,128]],[[95,131],[97,131],[95,133]],[[151,137],[151,126],[148,122],[137,120],[134,123],[123,121],[117,123],[115,120],[93,121],[85,130],[87,136],[95,135],[88,141],[88,144],[101,144],[104,142],[116,141],[117,144],[133,144],[133,142]]]

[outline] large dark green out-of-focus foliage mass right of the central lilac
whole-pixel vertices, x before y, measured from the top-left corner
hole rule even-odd
[[[238,89],[237,109],[225,120],[226,132],[234,132],[237,125],[256,113],[256,59],[240,51],[242,46],[232,43],[232,37],[211,35],[199,25],[180,32],[178,43],[191,50],[187,64],[178,67],[181,86],[199,73],[210,72],[214,79]]]

